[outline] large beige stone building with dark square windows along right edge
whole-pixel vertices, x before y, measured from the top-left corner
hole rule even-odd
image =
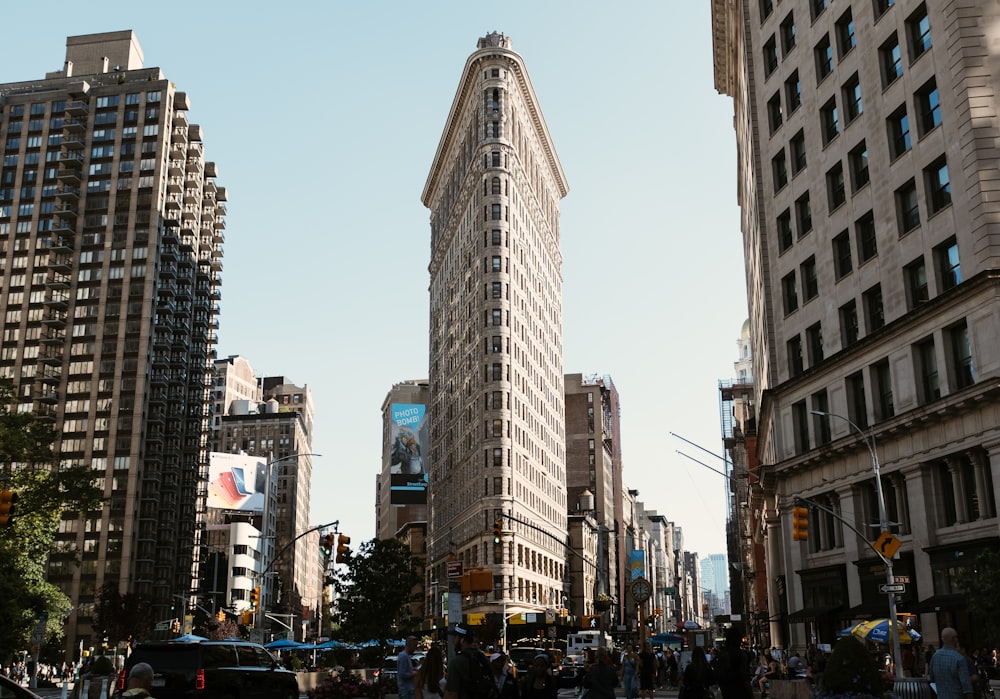
[[[1000,8],[715,0],[712,19],[738,143],[764,645],[888,615],[889,574],[925,636],[975,645],[956,569],[1000,535]]]

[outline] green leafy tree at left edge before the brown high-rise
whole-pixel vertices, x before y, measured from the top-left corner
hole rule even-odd
[[[18,412],[9,379],[0,379],[0,484],[17,493],[13,524],[0,529],[0,658],[28,645],[31,631],[48,615],[47,635],[62,633],[69,599],[45,580],[63,512],[99,509],[103,493],[89,465],[53,466],[57,433],[33,413]]]

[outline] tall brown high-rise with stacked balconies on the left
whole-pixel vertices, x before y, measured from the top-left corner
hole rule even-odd
[[[67,648],[99,645],[104,585],[157,620],[196,585],[226,196],[188,110],[131,31],[69,37],[62,70],[0,85],[0,374],[108,497],[50,558]]]

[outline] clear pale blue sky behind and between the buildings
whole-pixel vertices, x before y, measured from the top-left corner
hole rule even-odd
[[[746,292],[732,103],[713,87],[708,2],[4,3],[0,82],[62,67],[67,36],[132,29],[191,100],[229,191],[220,356],[308,384],[312,521],[374,535],[380,406],[427,376],[434,151],[476,40],[524,58],[570,185],[567,373],[621,393],[625,480],[725,551],[721,452]]]

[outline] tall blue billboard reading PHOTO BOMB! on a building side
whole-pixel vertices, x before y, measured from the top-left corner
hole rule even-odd
[[[389,502],[427,504],[427,406],[392,403],[389,406]]]

